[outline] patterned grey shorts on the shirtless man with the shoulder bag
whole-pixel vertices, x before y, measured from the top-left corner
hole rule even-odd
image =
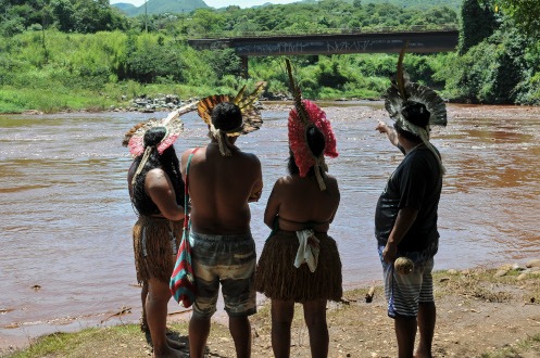
[[[242,317],[256,312],[255,242],[251,233],[214,235],[189,233],[197,282],[193,316],[209,318],[216,311],[219,283],[225,311]]]

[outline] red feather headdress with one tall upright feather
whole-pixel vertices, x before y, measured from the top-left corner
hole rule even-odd
[[[336,137],[331,130],[330,123],[326,118],[326,113],[321,110],[315,103],[302,100],[300,88],[294,84],[292,69],[289,60],[285,60],[287,72],[289,74],[290,88],[294,100],[294,108],[289,113],[289,146],[294,155],[300,176],[305,177],[310,168],[315,166],[315,176],[317,178],[321,190],[326,190],[326,184],[323,180],[321,171],[328,171],[328,166],[325,163],[325,155],[337,157]],[[325,150],[317,157],[313,155],[307,145],[306,132],[311,127],[317,127],[325,137]]]

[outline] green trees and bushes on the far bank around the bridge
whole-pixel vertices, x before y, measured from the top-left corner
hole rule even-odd
[[[0,113],[109,111],[145,97],[234,93],[259,80],[268,82],[263,97],[281,99],[288,93],[282,57],[248,57],[246,79],[233,49],[196,50],[187,40],[448,27],[460,30],[456,51],[405,56],[414,81],[454,102],[540,103],[540,3],[321,0],[213,9],[193,1],[181,10],[162,3],[167,0],[148,1],[147,16],[108,0],[0,2]],[[305,98],[379,99],[397,54],[291,61]]]

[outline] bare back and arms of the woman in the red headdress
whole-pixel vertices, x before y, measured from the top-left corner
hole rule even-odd
[[[315,177],[292,175],[278,179],[266,205],[264,222],[272,228],[278,216],[282,230],[328,231],[339,206],[340,193],[332,176],[326,176],[325,183],[327,189],[321,190]]]

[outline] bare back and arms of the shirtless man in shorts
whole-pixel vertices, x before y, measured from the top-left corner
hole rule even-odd
[[[184,178],[191,151],[181,156]],[[189,166],[191,228],[208,234],[249,232],[248,203],[262,188],[261,162],[254,154],[234,148],[231,156],[223,156],[215,143],[199,149]]]

